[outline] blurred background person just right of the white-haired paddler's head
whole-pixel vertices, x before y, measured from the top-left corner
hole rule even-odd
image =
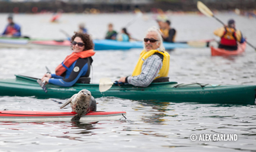
[[[164,29],[162,30],[162,37],[164,41],[174,43],[176,30],[174,28],[171,28],[171,22],[169,20],[165,21],[163,27]]]

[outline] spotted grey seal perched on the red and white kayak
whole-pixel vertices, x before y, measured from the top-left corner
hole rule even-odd
[[[73,95],[68,101],[60,106],[60,109],[64,108],[66,105],[71,104],[73,112],[77,114],[71,119],[71,121],[79,121],[79,119],[86,115],[90,111],[97,110],[97,104],[91,92],[87,89],[82,89],[77,94]]]

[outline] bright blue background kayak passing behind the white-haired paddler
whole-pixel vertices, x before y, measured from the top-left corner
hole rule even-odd
[[[116,40],[93,40],[94,50],[129,50],[131,48],[143,48],[142,41],[116,41]],[[189,48],[186,43],[165,43],[164,47],[166,50],[174,48]]]

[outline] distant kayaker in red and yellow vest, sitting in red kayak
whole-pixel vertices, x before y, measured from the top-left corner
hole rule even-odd
[[[220,37],[219,48],[224,48],[226,50],[237,50],[238,43],[245,42],[241,31],[236,30],[234,20],[229,20],[228,26],[215,30],[214,34]]]

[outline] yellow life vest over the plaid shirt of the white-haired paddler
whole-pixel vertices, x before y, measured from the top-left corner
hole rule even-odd
[[[168,73],[169,73],[169,54],[167,53],[167,51],[159,51],[159,50],[150,50],[150,51],[143,50],[140,53],[139,60],[136,64],[136,66],[135,66],[135,69],[133,70],[132,76],[140,75],[140,73],[142,72],[142,64],[144,63],[144,61],[146,59],[148,59],[148,57],[152,56],[155,53],[161,53],[164,56],[164,59],[162,61],[163,62],[162,68],[160,69],[160,71],[159,71],[158,75],[155,77],[155,79],[157,79],[159,77],[168,76]]]

